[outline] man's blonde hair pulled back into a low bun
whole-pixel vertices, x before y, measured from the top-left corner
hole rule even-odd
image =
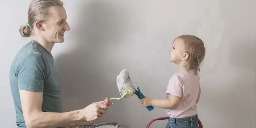
[[[28,24],[20,26],[20,35],[23,37],[29,37],[32,34],[33,24],[36,21],[44,22],[47,16],[46,9],[51,6],[63,6],[63,2],[60,0],[32,0],[28,7]]]

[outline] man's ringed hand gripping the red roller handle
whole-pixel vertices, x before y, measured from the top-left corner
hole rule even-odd
[[[92,103],[81,109],[81,115],[85,121],[94,121],[100,119],[108,110],[108,106],[102,104],[103,101]]]

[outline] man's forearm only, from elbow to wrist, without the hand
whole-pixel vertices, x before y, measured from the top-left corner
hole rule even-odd
[[[34,112],[25,123],[28,128],[56,128],[81,119],[80,110],[64,113]]]

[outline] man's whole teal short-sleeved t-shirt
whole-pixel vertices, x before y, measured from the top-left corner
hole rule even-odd
[[[42,111],[61,112],[60,79],[52,54],[35,40],[24,45],[10,67],[10,85],[16,125],[26,128],[19,90],[43,92]]]

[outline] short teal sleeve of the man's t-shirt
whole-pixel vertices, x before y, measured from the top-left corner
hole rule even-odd
[[[37,54],[27,55],[18,66],[17,79],[20,90],[43,92],[44,90],[44,62]]]

